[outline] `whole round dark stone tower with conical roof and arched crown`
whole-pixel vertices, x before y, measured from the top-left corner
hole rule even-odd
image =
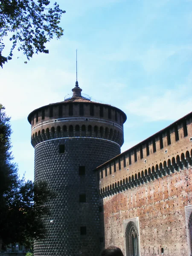
[[[99,204],[93,169],[120,154],[126,115],[111,105],[73,95],[28,116],[35,148],[35,181],[55,192],[44,218],[46,239],[35,256],[98,256]]]

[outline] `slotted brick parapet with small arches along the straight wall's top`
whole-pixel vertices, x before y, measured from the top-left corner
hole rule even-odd
[[[192,113],[99,166],[102,197],[192,166]]]

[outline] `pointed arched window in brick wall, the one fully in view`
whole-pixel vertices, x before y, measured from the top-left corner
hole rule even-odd
[[[125,245],[127,256],[139,255],[139,234],[133,221],[130,221],[125,229]]]

